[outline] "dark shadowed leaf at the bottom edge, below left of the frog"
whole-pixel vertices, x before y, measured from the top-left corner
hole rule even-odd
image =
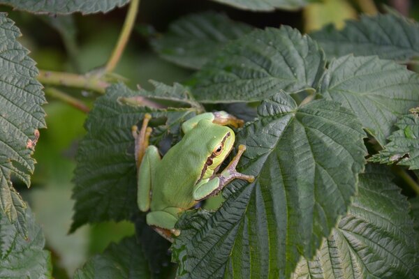
[[[137,279],[151,278],[147,259],[135,236],[112,243],[101,255],[95,255],[81,269],[75,271],[74,279]]]

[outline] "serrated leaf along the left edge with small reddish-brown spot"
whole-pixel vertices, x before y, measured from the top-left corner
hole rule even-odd
[[[41,105],[45,103],[38,70],[28,51],[17,42],[20,31],[0,13],[0,216],[6,215],[26,234],[25,204],[13,189],[10,176],[30,185],[34,172],[31,154],[38,128],[45,128]]]

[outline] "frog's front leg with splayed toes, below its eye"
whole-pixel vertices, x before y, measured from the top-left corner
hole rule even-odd
[[[255,180],[254,176],[241,174],[235,169],[245,150],[246,146],[240,144],[237,155],[233,158],[233,160],[231,160],[228,166],[223,169],[221,174],[217,174],[211,179],[203,179],[197,183],[193,189],[193,199],[200,201],[207,197],[216,195],[224,188],[224,186],[230,183],[230,181],[233,181],[233,179],[242,179],[253,182]]]

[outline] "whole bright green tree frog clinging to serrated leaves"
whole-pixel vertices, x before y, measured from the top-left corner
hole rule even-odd
[[[219,195],[233,181],[249,183],[254,176],[237,172],[236,167],[246,150],[240,144],[237,154],[222,172],[221,164],[233,151],[235,133],[232,128],[243,125],[227,112],[205,112],[182,123],[182,139],[163,158],[159,149],[149,144],[151,114],[145,114],[142,126],[133,126],[137,166],[137,202],[147,212],[146,223],[169,241],[179,236],[175,229],[179,216],[209,197]]]

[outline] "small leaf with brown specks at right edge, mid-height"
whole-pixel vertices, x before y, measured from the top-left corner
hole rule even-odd
[[[388,137],[390,142],[369,160],[419,169],[419,117],[416,114],[403,116],[397,121],[396,127],[399,130]]]

